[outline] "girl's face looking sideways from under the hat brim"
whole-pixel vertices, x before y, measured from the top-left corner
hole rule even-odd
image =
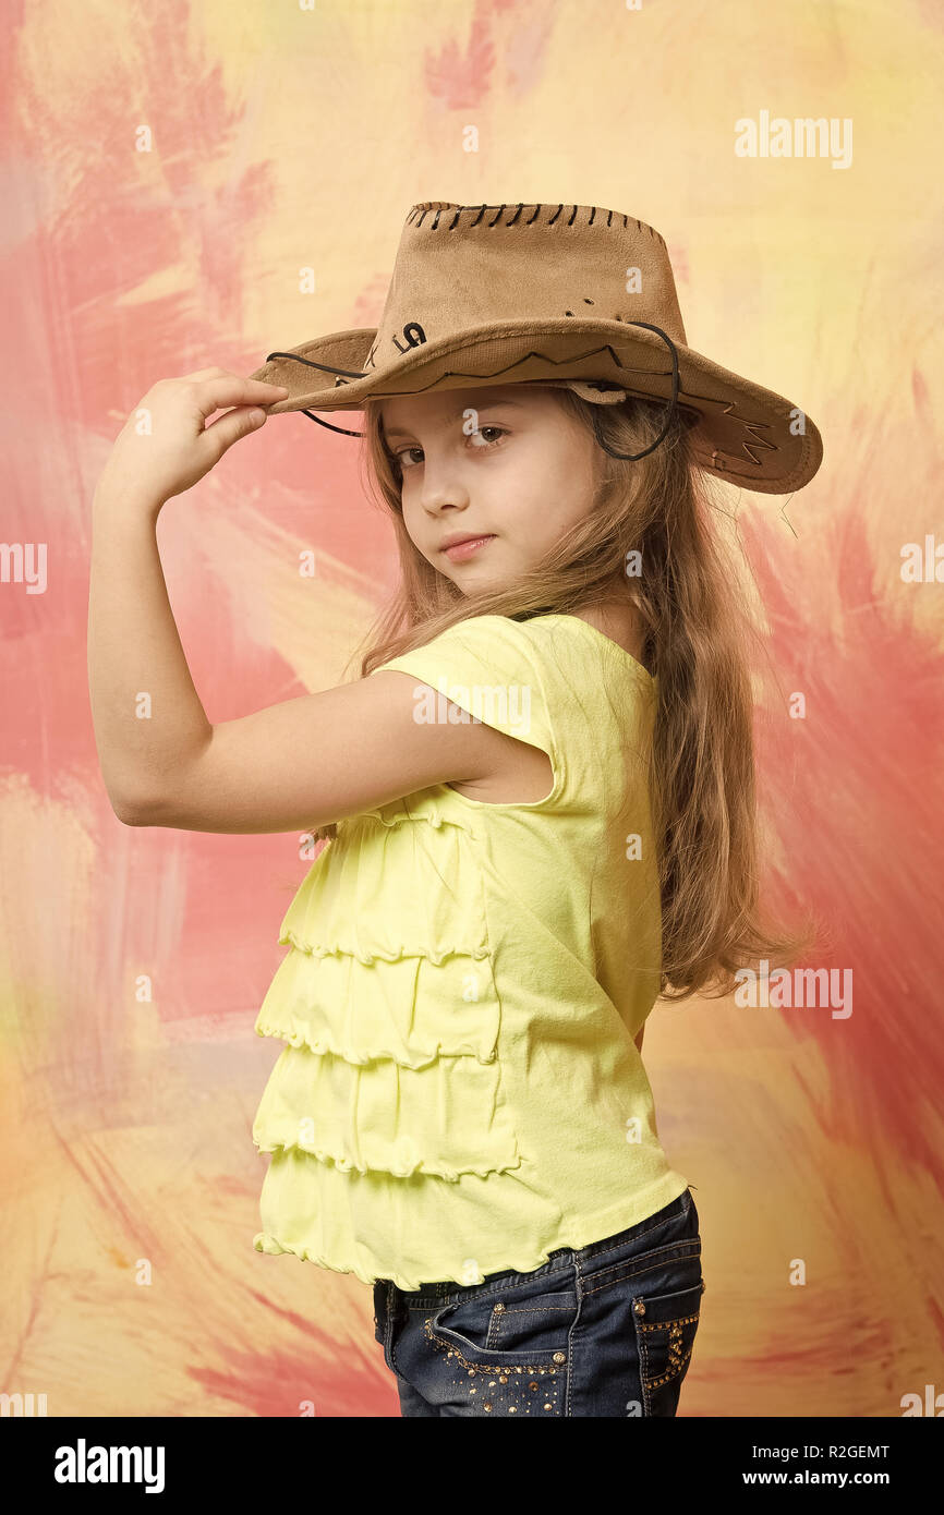
[[[380,414],[409,538],[465,594],[512,585],[592,506],[595,439],[552,391],[441,389]],[[447,551],[458,536],[488,541]]]

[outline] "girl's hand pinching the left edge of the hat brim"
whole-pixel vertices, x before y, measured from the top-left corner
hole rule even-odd
[[[241,379],[226,368],[159,379],[118,433],[95,494],[130,491],[159,511],[203,479],[235,441],[256,432],[267,406],[286,397],[283,385]],[[226,406],[235,409],[208,426],[208,417]]]

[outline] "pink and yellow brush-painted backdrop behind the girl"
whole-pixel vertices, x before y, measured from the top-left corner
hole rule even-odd
[[[309,859],[294,835],[120,824],[85,617],[91,494],[129,411],[159,377],[374,324],[426,198],[647,221],[691,345],[823,432],[796,498],[729,501],[776,674],[773,903],[829,921],[815,965],[855,994],[844,1017],[649,1023],[708,1280],[682,1413],[900,1415],[944,1389],[941,3],[8,15],[0,1389],[50,1415],[397,1415],[370,1291],[252,1247],[280,1050],[253,1021]],[[800,155],[779,118],[826,130]],[[297,414],[173,500],[159,539],[212,721],[341,682],[392,586],[356,444]]]

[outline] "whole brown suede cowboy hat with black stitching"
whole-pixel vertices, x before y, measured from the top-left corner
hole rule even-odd
[[[592,205],[414,205],[380,324],[270,353],[250,377],[289,391],[270,415],[312,421],[367,398],[505,383],[662,400],[662,436],[677,408],[697,462],[759,494],[800,489],[823,461],[799,406],[686,345],[662,236]]]

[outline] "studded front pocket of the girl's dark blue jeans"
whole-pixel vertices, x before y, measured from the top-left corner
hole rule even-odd
[[[568,1360],[570,1329],[577,1318],[577,1291],[571,1274],[558,1288],[509,1285],[499,1294],[480,1294],[444,1304],[424,1323],[433,1345],[447,1347],[468,1367],[527,1373],[559,1371]]]

